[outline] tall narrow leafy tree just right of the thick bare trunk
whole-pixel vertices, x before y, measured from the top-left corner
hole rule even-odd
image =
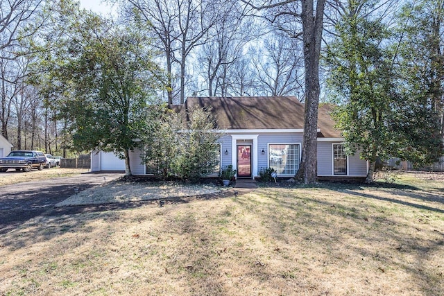
[[[336,23],[336,40],[327,47],[329,85],[338,104],[334,119],[343,131],[349,153],[362,150],[368,159],[368,182],[373,180],[377,157],[391,153],[394,93],[391,53],[384,48],[388,31],[380,21],[371,19],[375,3],[348,1],[347,11]]]

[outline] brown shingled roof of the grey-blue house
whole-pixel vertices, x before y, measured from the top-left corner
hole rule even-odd
[[[183,105],[170,105],[187,118],[194,107],[211,110],[221,130],[293,130],[304,128],[305,105],[295,96],[189,97]],[[332,105],[320,105],[318,137],[341,137],[330,117]]]

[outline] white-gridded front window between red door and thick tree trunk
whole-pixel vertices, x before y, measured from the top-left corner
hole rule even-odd
[[[295,175],[299,170],[298,144],[270,144],[268,163],[280,175]]]

